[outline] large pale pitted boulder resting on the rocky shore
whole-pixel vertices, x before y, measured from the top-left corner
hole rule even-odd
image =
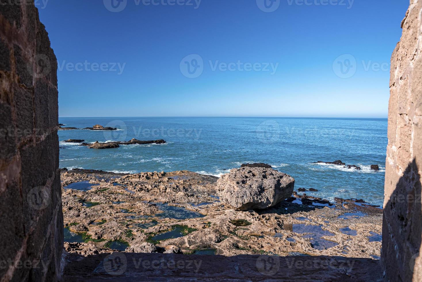
[[[220,200],[239,210],[266,209],[289,198],[295,179],[272,168],[233,168],[217,181]]]

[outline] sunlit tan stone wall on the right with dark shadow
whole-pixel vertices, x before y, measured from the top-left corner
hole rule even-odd
[[[410,2],[391,59],[382,230],[382,262],[390,281],[422,281],[422,2]]]

